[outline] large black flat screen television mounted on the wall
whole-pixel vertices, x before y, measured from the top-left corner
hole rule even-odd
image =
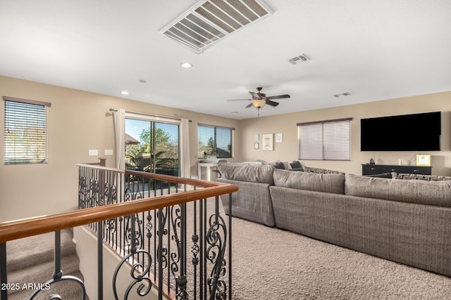
[[[440,112],[360,119],[362,151],[438,151],[440,135]]]

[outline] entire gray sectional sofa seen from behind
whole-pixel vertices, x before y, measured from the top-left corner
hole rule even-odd
[[[451,277],[451,181],[223,164],[233,216]],[[228,197],[221,198],[226,214]]]

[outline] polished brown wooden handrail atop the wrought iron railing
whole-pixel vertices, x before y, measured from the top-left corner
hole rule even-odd
[[[93,166],[89,165],[89,167]],[[125,173],[134,174],[135,172],[125,171]],[[143,176],[142,172],[136,173],[137,175],[139,174],[140,176]],[[236,185],[199,181],[196,179],[188,178],[178,178],[161,174],[149,174],[148,178],[161,179],[166,181],[169,180],[171,182],[197,185],[205,188],[199,190],[190,190],[183,193],[150,197],[142,200],[109,204],[101,207],[78,209],[76,211],[69,211],[60,214],[51,214],[47,216],[37,216],[29,219],[3,222],[0,223],[0,243],[8,242],[11,240],[18,240],[22,237],[30,237],[32,235],[40,235],[43,233],[54,232],[56,230],[63,230],[76,226],[86,225],[89,223],[105,221],[119,216],[137,214],[142,211],[161,209],[163,207],[170,207],[175,204],[183,204],[195,200],[205,199],[208,197],[214,197],[217,195],[234,193],[238,190],[238,187]]]

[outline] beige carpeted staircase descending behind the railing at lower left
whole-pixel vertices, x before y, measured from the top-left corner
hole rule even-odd
[[[61,231],[61,270],[63,275],[72,275],[83,280],[78,268],[80,260],[72,239],[71,230]],[[39,286],[42,286],[43,290],[35,299],[48,299],[52,294],[58,294],[64,300],[82,299],[82,288],[73,280],[61,280],[50,286],[40,285],[53,278],[54,247],[54,233],[26,237],[6,244],[9,300],[29,299]]]

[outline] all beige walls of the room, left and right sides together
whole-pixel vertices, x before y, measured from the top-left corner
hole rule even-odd
[[[0,77],[1,96],[50,102],[48,110],[49,163],[4,165],[0,152],[0,221],[53,214],[75,209],[78,202],[78,168],[80,162],[96,162],[88,156],[89,149],[115,149],[113,115],[109,108],[125,108],[175,118],[191,119],[191,174],[197,175],[197,124],[234,127],[235,157],[230,162],[262,159],[297,159],[297,126],[299,122],[352,117],[352,160],[350,162],[308,161],[311,167],[324,167],[361,174],[362,167],[375,156],[377,163],[397,164],[397,159],[409,161],[414,152],[360,152],[359,119],[385,115],[442,111],[442,151],[431,152],[433,174],[451,174],[451,92],[434,93],[359,105],[348,105],[295,112],[274,117],[246,120],[221,118],[187,110],[177,110],[123,98],[99,95],[31,81]],[[0,126],[4,132],[4,105],[0,105]],[[270,107],[269,107],[270,108]],[[268,108],[268,109],[269,109]],[[414,130],[414,124],[409,130]],[[273,151],[254,150],[254,135],[283,133],[283,143],[275,143]],[[260,145],[261,146],[261,145]],[[3,138],[0,139],[3,149]],[[107,156],[107,165],[114,167],[114,156]]]

